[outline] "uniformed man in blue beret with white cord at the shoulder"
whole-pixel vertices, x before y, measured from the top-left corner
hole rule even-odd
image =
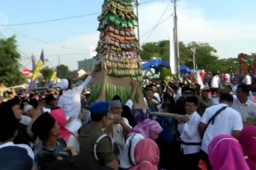
[[[98,164],[117,170],[119,163],[114,157],[112,140],[103,129],[110,120],[110,103],[97,102],[90,106],[92,122],[80,130],[80,154],[88,154]]]

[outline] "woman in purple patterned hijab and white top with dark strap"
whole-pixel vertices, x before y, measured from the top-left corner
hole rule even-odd
[[[156,140],[163,129],[156,120],[145,119],[132,129],[119,155],[119,169],[129,169],[135,166],[134,149],[140,140],[149,138]]]

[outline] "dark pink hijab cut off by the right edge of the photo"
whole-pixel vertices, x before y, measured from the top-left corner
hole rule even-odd
[[[256,126],[247,125],[242,129],[240,144],[245,153],[245,161],[251,170],[256,170]]]

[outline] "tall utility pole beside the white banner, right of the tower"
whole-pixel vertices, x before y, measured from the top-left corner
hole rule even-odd
[[[180,60],[179,60],[179,48],[178,48],[178,24],[176,13],[176,1],[174,0],[174,49],[175,49],[175,61],[176,61],[176,78],[180,78]]]

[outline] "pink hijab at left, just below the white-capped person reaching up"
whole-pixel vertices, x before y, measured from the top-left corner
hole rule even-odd
[[[66,144],[68,145],[68,141],[70,140],[70,137],[74,135],[77,137],[73,132],[70,132],[67,128],[65,128],[65,125],[67,125],[67,120],[64,111],[61,108],[55,108],[52,111],[50,111],[50,115],[53,116],[53,118],[56,120],[58,125],[60,126],[60,136],[59,138],[63,139]]]

